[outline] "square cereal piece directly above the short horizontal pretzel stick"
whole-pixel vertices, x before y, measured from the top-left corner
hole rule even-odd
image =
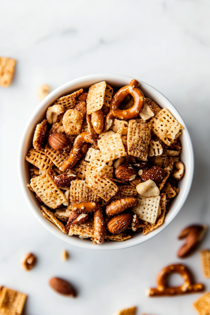
[[[99,197],[87,186],[84,180],[72,180],[70,187],[70,202],[99,202]]]

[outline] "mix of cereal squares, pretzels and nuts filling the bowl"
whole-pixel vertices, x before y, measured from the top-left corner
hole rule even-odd
[[[132,80],[60,97],[26,156],[42,215],[69,236],[124,241],[162,225],[184,175],[183,127]]]

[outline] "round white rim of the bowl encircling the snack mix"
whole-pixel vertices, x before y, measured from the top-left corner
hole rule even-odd
[[[31,211],[33,214],[37,217],[37,219],[42,223],[43,226],[45,226],[48,231],[53,233],[55,236],[58,238],[64,240],[67,243],[70,243],[72,245],[85,248],[85,249],[95,249],[95,250],[115,250],[115,249],[124,249],[124,248],[129,248],[135,245],[138,245],[140,243],[144,243],[147,240],[153,238],[160,232],[162,232],[163,229],[165,229],[175,218],[175,216],[179,213],[181,210],[182,206],[184,205],[184,202],[190,192],[190,187],[192,184],[193,180],[193,173],[194,173],[194,154],[193,154],[193,146],[192,146],[192,141],[190,138],[189,131],[184,123],[183,118],[177,111],[177,109],[173,106],[173,104],[157,89],[152,87],[151,85],[136,79],[139,81],[140,89],[143,91],[143,93],[147,96],[156,100],[159,99],[159,105],[162,107],[162,103],[164,103],[164,107],[169,107],[169,111],[172,112],[172,115],[179,121],[179,123],[184,127],[182,130],[182,134],[185,136],[186,144],[187,144],[187,152],[189,153],[189,163],[188,163],[188,172],[186,178],[186,183],[184,188],[182,188],[182,191],[179,192],[178,196],[181,196],[179,198],[179,202],[176,204],[176,207],[173,211],[169,212],[169,216],[167,215],[167,220],[163,222],[161,226],[159,226],[157,229],[153,230],[152,232],[146,234],[143,238],[141,234],[138,234],[138,236],[131,237],[126,241],[123,242],[104,242],[103,244],[100,244],[98,246],[94,245],[94,243],[90,240],[87,239],[80,239],[77,236],[69,237],[68,234],[63,233],[57,226],[54,226],[51,222],[46,220],[43,215],[40,212],[40,204],[38,204],[36,198],[34,197],[34,194],[27,188],[27,180],[26,180],[26,160],[25,160],[25,153],[24,153],[24,147],[26,146],[26,137],[28,136],[29,129],[31,129],[31,125],[37,124],[37,121],[40,121],[41,114],[40,112],[44,110],[45,112],[48,106],[52,105],[53,101],[63,95],[71,93],[70,90],[74,91],[78,89],[79,87],[82,88],[84,87],[84,84],[88,86],[100,82],[100,81],[106,81],[106,82],[112,82],[113,85],[119,85],[123,86],[120,82],[127,82],[125,84],[129,84],[130,81],[134,79],[133,77],[130,76],[125,76],[121,74],[94,74],[94,75],[88,75],[84,77],[79,77],[77,79],[71,80],[54,91],[52,91],[48,96],[45,97],[44,100],[40,102],[40,104],[36,107],[34,112],[31,114],[31,117],[29,118],[24,131],[21,136],[20,140],[20,146],[19,146],[19,152],[18,152],[18,173],[19,173],[19,180],[20,180],[20,186],[22,189],[22,192],[24,194],[24,197],[26,199],[26,202],[28,203]],[[88,84],[87,84],[88,81]],[[115,84],[114,84],[114,83]],[[82,86],[83,84],[83,86]],[[124,84],[124,85],[125,85]],[[76,88],[77,86],[77,88]],[[146,91],[146,93],[144,92]],[[60,95],[60,96],[58,96]],[[152,96],[153,95],[153,96]],[[155,97],[154,97],[155,96]],[[157,100],[156,100],[157,101]],[[167,104],[167,106],[166,106]],[[167,107],[167,108],[168,108]],[[162,107],[163,108],[163,107]],[[38,119],[39,117],[39,119]],[[34,130],[34,129],[33,129]],[[31,135],[30,135],[31,136]],[[24,174],[25,173],[25,174]],[[177,196],[177,197],[178,197]],[[171,205],[172,207],[172,205]],[[170,209],[171,210],[171,209]]]

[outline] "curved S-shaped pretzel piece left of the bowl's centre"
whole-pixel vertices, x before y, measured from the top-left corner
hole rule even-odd
[[[82,132],[77,138],[74,140],[72,149],[69,154],[69,158],[61,165],[60,170],[65,172],[68,169],[71,169],[81,157],[80,150],[82,148],[83,143],[88,142],[95,144],[95,138],[93,134],[90,132]]]

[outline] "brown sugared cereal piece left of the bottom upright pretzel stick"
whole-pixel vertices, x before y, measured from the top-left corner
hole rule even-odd
[[[72,235],[79,235],[80,238],[93,238],[94,237],[93,220],[88,219],[83,223],[71,225],[69,230],[69,236]]]

